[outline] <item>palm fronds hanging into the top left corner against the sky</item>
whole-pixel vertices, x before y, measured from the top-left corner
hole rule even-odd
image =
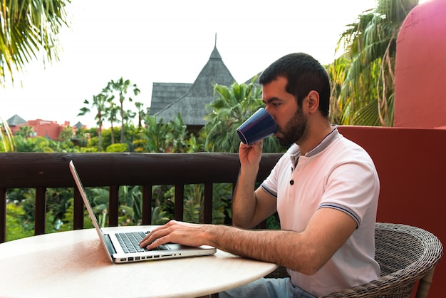
[[[58,60],[59,31],[68,26],[66,6],[71,0],[0,1],[0,86],[6,73],[14,73],[43,50],[48,61]],[[4,151],[14,150],[8,123],[0,117],[0,144]]]

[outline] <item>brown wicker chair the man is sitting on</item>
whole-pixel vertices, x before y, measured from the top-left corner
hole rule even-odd
[[[375,260],[381,267],[380,279],[324,297],[410,297],[418,280],[416,297],[427,297],[435,266],[443,255],[437,237],[418,227],[377,223],[375,248]],[[283,267],[269,277],[279,275],[287,275]]]

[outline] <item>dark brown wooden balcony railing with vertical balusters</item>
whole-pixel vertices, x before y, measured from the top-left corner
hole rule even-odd
[[[264,154],[257,180],[280,153]],[[73,228],[83,228],[83,202],[68,168],[73,160],[85,187],[110,187],[109,225],[118,225],[120,185],[142,186],[142,224],[152,219],[152,186],[175,185],[175,220],[183,219],[184,186],[204,184],[204,222],[212,222],[212,185],[237,182],[237,153],[0,153],[0,243],[6,241],[6,190],[35,188],[35,235],[45,233],[46,189],[74,189]]]

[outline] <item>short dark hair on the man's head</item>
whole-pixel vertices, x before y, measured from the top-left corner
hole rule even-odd
[[[299,107],[312,90],[319,93],[319,111],[328,117],[330,110],[330,81],[325,68],[306,53],[290,53],[274,61],[261,73],[259,83],[266,85],[276,78],[286,78],[286,92],[296,98]]]

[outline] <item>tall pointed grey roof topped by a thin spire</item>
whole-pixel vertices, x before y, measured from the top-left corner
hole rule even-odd
[[[204,116],[209,113],[206,105],[214,101],[214,87],[212,84],[230,86],[234,82],[235,79],[224,65],[217,46],[214,46],[209,60],[187,93],[162,108],[155,115],[158,119],[162,118],[163,122],[168,122],[175,119],[178,113],[181,113],[186,125],[204,125]],[[154,99],[155,104],[158,104],[156,102],[157,98],[153,98],[152,94],[151,106],[154,104]],[[152,107],[150,110],[152,110]]]

